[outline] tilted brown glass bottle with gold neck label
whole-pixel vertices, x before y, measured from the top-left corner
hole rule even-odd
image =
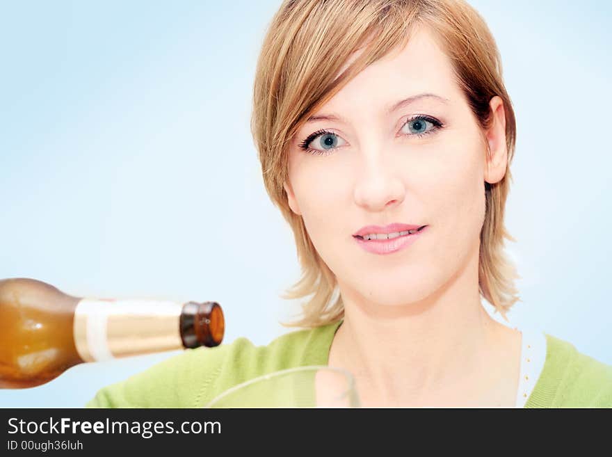
[[[35,387],[82,362],[218,346],[224,331],[216,302],[78,298],[0,280],[0,388]]]

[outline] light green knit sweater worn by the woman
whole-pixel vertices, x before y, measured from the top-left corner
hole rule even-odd
[[[97,392],[87,408],[200,408],[245,380],[291,367],[327,365],[341,321],[295,330],[267,346],[245,337],[214,348],[186,349]],[[525,408],[612,408],[612,365],[545,335],[547,354]]]

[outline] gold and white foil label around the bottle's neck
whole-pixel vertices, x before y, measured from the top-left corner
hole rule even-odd
[[[86,362],[183,348],[182,304],[83,298],[74,312],[74,344]]]

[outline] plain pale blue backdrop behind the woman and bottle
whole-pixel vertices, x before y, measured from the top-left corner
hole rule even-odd
[[[471,3],[517,113],[507,226],[523,302],[511,323],[612,364],[611,3]],[[279,5],[0,3],[0,278],[75,296],[216,300],[225,342],[290,331],[277,321],[298,304],[278,295],[300,268],[249,129]],[[1,390],[0,406],[83,406],[177,353],[81,364]]]

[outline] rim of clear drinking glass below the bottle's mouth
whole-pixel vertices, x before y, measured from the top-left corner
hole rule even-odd
[[[359,408],[353,375],[308,365],[275,371],[236,385],[204,408]]]

